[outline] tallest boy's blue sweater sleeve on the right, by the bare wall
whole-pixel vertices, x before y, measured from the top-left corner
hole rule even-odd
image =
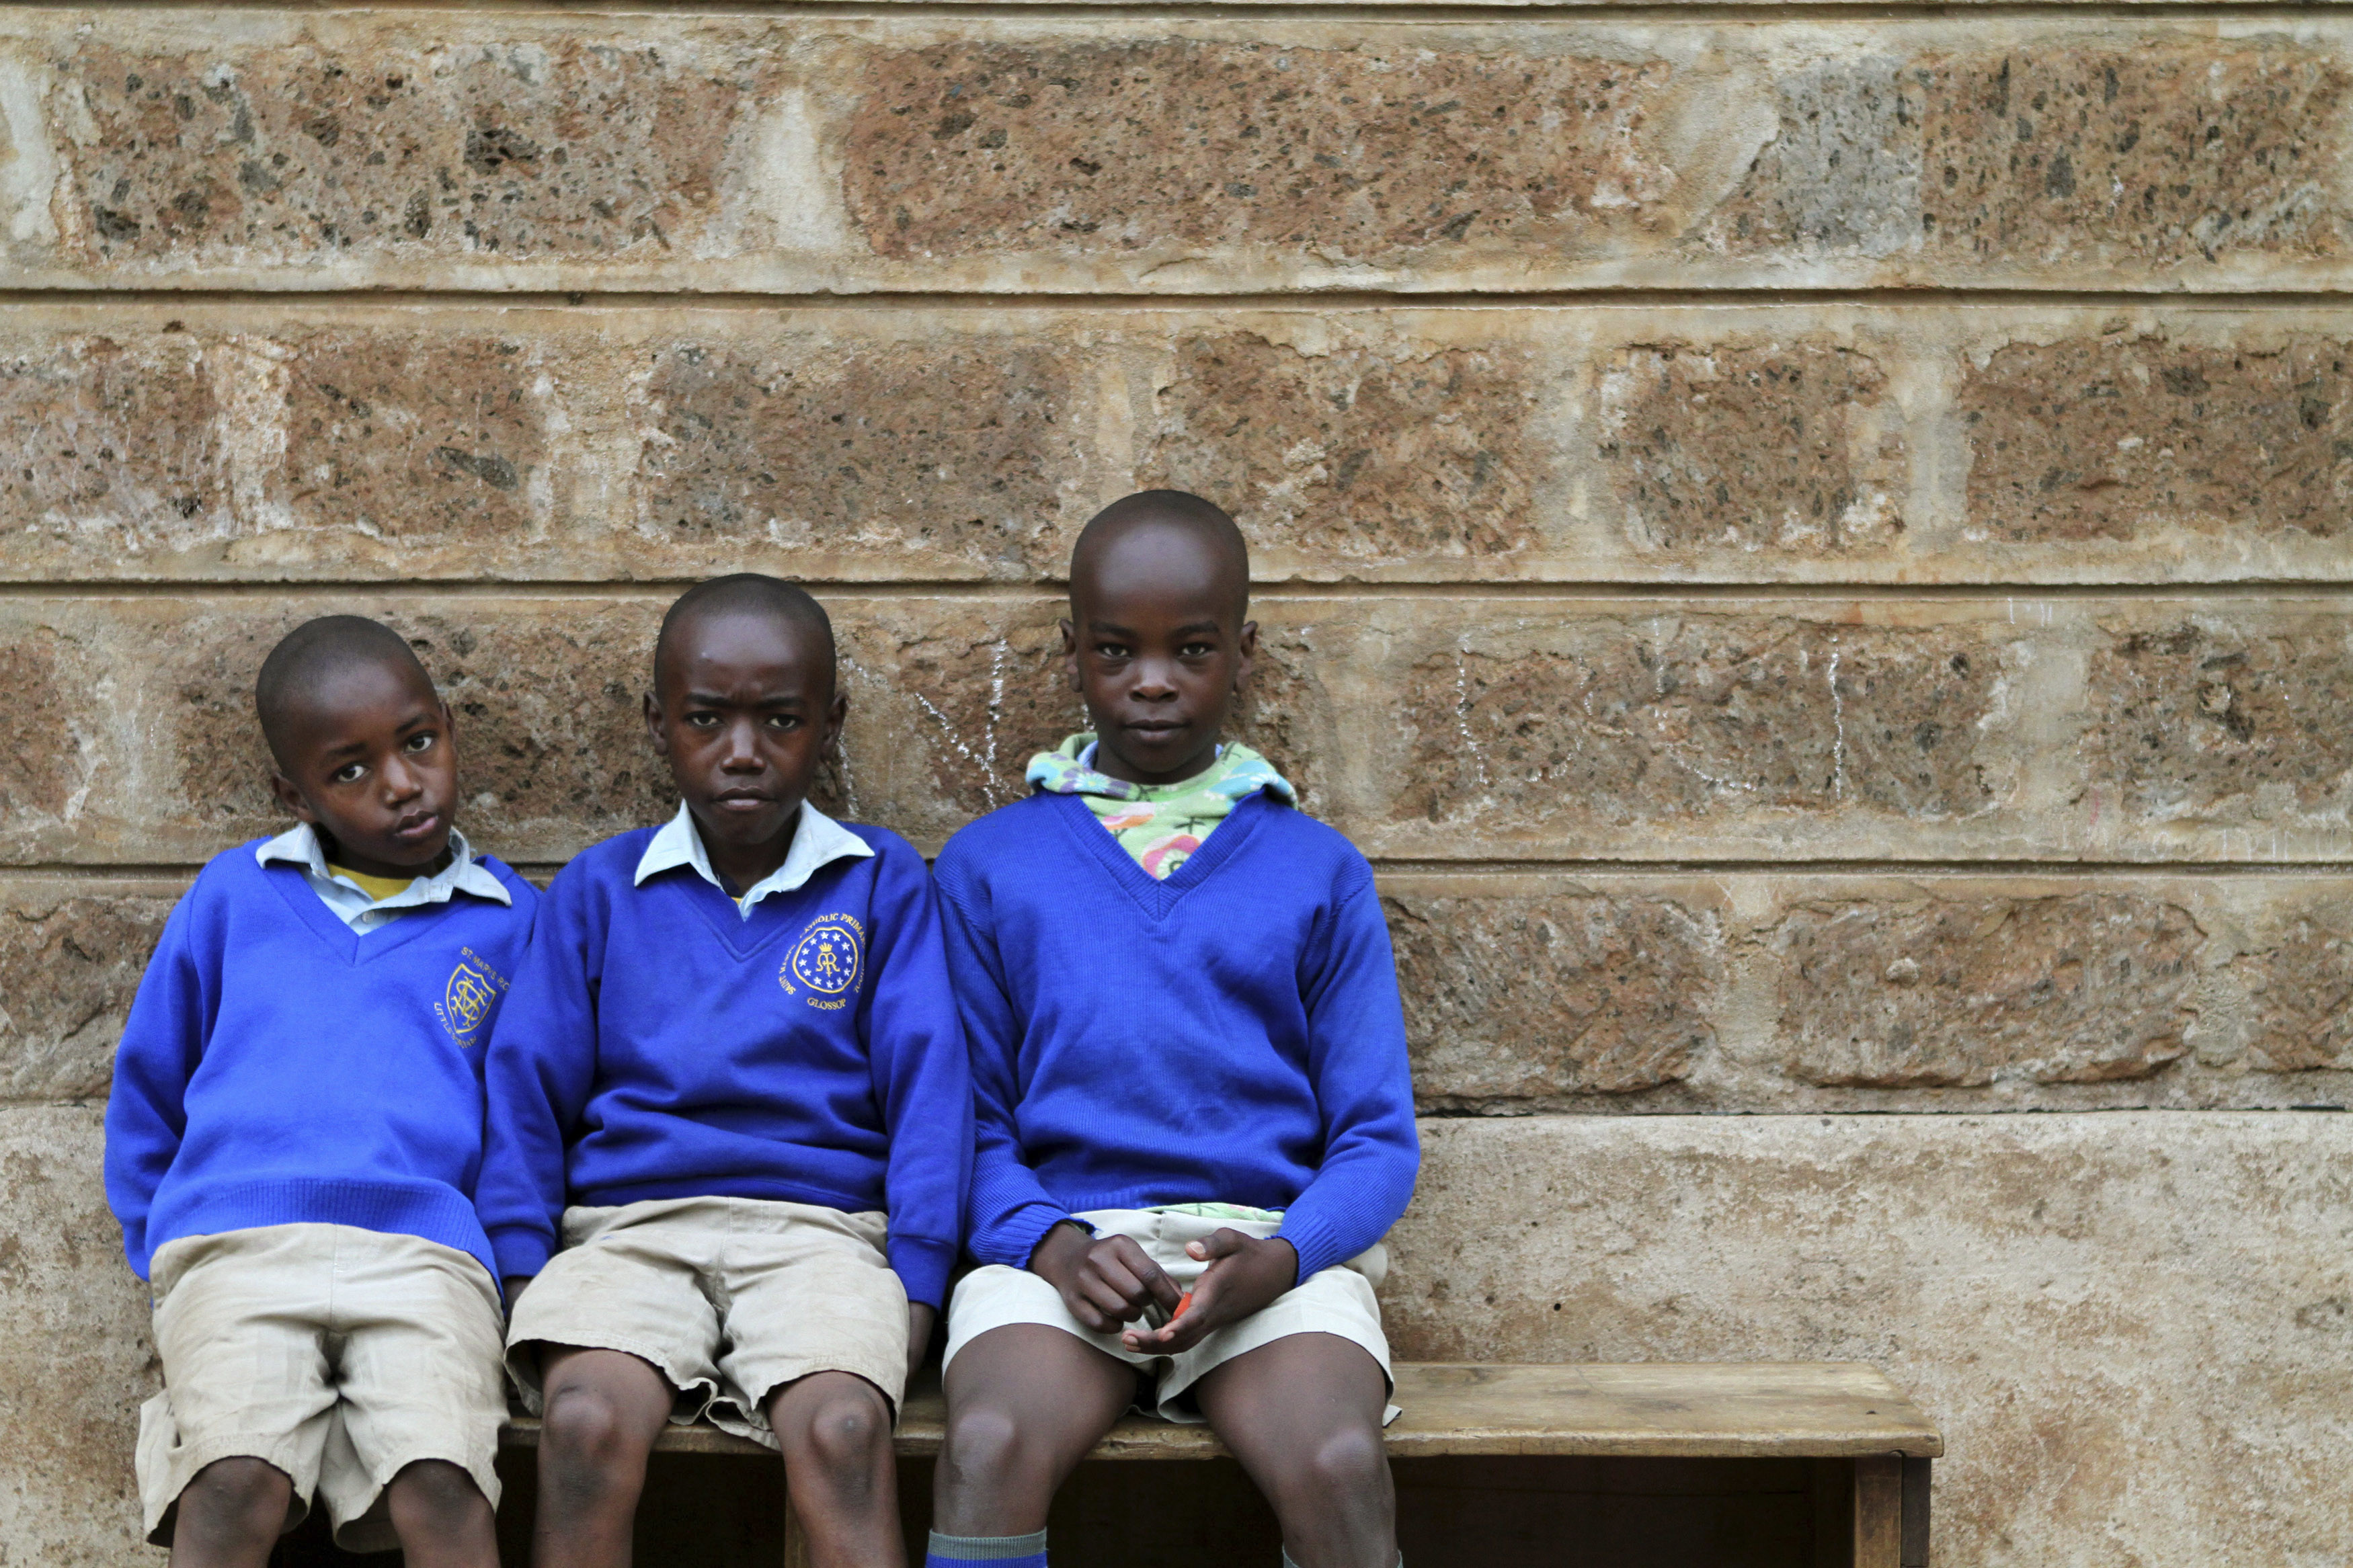
[[[1421,1171],[1405,1006],[1369,872],[1341,898],[1320,964],[1304,966],[1301,985],[1325,1157],[1275,1234],[1299,1251],[1306,1279],[1386,1237]]]

